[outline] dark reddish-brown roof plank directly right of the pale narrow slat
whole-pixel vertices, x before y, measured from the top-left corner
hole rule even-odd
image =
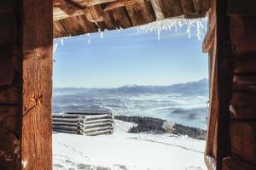
[[[183,15],[183,10],[177,0],[160,0],[165,18]]]

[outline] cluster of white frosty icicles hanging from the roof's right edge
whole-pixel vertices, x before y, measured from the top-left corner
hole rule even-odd
[[[158,20],[147,25],[137,26],[138,32],[152,32],[156,31],[158,40],[160,41],[161,31],[171,31],[173,28],[177,32],[177,28],[187,26],[188,37],[191,37],[192,27],[196,27],[196,36],[201,39],[201,32],[204,31],[204,27],[201,23],[201,19],[166,19]]]

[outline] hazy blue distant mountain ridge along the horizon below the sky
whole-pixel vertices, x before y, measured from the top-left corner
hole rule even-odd
[[[170,86],[125,85],[120,88],[54,88],[54,94],[208,94],[208,79]]]

